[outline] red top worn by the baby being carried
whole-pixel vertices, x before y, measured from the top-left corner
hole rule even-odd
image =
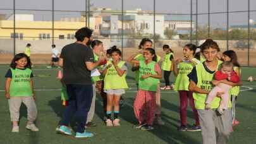
[[[221,71],[216,71],[214,78],[217,81],[226,80],[228,79],[228,74],[224,74]],[[233,83],[237,83],[238,81],[240,81],[240,77],[236,74],[235,71],[232,71],[229,81],[232,81]]]

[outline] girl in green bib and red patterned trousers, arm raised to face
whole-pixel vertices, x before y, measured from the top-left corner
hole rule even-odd
[[[136,56],[136,55],[135,55]],[[133,104],[133,111],[138,119],[135,128],[151,130],[155,116],[155,93],[162,78],[162,71],[157,64],[155,50],[147,48],[143,52],[144,61],[133,60],[135,56],[129,57],[128,61],[139,66],[138,92]],[[145,117],[144,114],[147,116]]]

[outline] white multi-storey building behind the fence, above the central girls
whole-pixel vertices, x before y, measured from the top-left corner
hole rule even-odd
[[[101,35],[120,35],[122,30],[121,15],[103,16]],[[127,35],[153,35],[153,15],[124,15],[123,30]],[[164,16],[155,16],[155,33],[164,37]]]

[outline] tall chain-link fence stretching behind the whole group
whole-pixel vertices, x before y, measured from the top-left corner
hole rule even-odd
[[[0,63],[30,43],[35,64],[51,60],[75,41],[78,28],[90,27],[107,49],[117,45],[123,58],[137,51],[143,37],[162,55],[169,44],[176,57],[183,45],[214,39],[222,51],[233,49],[243,66],[256,66],[256,1],[254,0],[1,0]]]

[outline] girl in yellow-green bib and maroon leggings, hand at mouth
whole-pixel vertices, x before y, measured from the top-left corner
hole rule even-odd
[[[180,121],[181,125],[178,131],[200,131],[200,124],[197,109],[195,109],[193,92],[188,90],[188,74],[192,71],[193,67],[200,64],[200,51],[197,50],[197,46],[194,44],[187,44],[183,48],[183,59],[177,59],[174,63],[174,75],[176,80],[174,83],[174,90],[179,92],[180,95]],[[186,125],[186,108],[188,106],[188,99],[190,107],[193,110],[195,116],[195,125],[192,128],[187,128]]]

